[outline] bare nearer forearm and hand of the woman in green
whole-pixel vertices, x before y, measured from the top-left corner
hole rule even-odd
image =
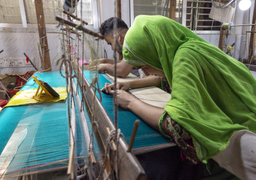
[[[151,127],[159,130],[158,122],[164,112],[164,108],[147,104],[123,90],[117,90],[116,93],[118,106],[132,111],[134,114],[147,122]],[[113,95],[114,91],[111,90],[109,94]]]

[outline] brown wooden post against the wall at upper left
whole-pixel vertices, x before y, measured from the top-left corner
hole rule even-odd
[[[48,47],[48,41],[47,41],[47,36],[46,36],[46,28],[45,28],[45,23],[44,23],[44,13],[43,13],[42,1],[41,0],[35,1],[35,7],[36,7],[36,18],[37,18],[39,38],[42,38],[42,41],[44,42],[44,45],[45,45],[44,48],[42,48],[42,50],[43,50],[42,54],[44,54],[43,66],[44,66],[44,70],[48,69],[47,71],[51,71],[51,61],[50,61],[49,47]]]

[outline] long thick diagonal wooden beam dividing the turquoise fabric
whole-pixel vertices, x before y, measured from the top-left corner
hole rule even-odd
[[[79,76],[79,85],[83,83],[86,87],[86,91],[83,91],[83,96],[85,97],[86,103],[88,104],[88,108],[91,111],[91,107],[93,105],[93,97],[94,92],[87,81],[87,79],[83,76],[83,72],[78,65],[74,63],[74,71],[75,74]],[[82,87],[80,87],[82,89]],[[95,97],[95,109],[97,110],[97,119],[101,119],[101,123],[98,123],[98,133],[103,141],[103,144],[106,143],[106,139],[108,137],[108,133],[106,127],[111,130],[115,129],[114,123],[112,119],[109,117],[105,108],[102,106],[98,97]],[[120,137],[118,144],[118,175],[119,179],[146,179],[146,172],[141,166],[138,159],[132,152],[127,152],[128,144],[124,140],[124,138]],[[114,152],[110,152],[110,159],[114,158]],[[112,158],[111,158],[112,157]],[[114,163],[114,162],[112,162]]]

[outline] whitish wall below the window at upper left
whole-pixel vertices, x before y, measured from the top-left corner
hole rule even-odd
[[[75,35],[73,34],[72,37],[75,39]],[[91,36],[86,35],[87,39],[93,43],[93,40]],[[62,38],[62,35],[58,35],[58,33],[47,33],[48,38],[48,46],[49,46],[49,53],[50,53],[50,60],[52,64],[52,71],[58,71],[59,65],[56,65],[56,60],[61,57],[61,47],[59,38]],[[39,58],[39,51],[38,51],[38,45],[39,43],[39,35],[38,32],[35,33],[1,33],[0,32],[0,49],[4,50],[0,54],[0,59],[2,58],[24,58],[24,54],[26,53],[28,57],[35,58],[35,66],[37,68],[41,67],[41,62]],[[95,42],[96,44],[96,42]],[[75,41],[74,41],[75,45]],[[84,59],[89,60],[90,59],[90,50],[88,46],[84,50]],[[96,47],[97,45],[95,45]],[[82,58],[82,44],[79,43],[79,55]],[[0,51],[1,51],[0,50]],[[78,49],[77,49],[78,51]],[[35,71],[34,67],[18,67],[18,68],[4,68],[0,69],[0,75],[6,74],[6,73],[17,73],[22,74],[26,73],[27,71]]]

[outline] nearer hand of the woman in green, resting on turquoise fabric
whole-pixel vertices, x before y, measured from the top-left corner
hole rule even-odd
[[[111,90],[109,92],[112,96],[114,95],[114,91]],[[124,90],[116,90],[116,99],[118,106],[125,110],[131,110],[131,104],[135,103],[138,99],[127,93]]]

